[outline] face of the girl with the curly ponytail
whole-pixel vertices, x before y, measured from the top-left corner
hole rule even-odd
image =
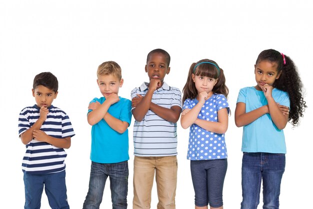
[[[275,80],[279,78],[281,71],[277,72],[276,63],[260,61],[254,65],[254,74],[257,83],[255,89],[261,91],[261,87],[265,84],[272,86]]]

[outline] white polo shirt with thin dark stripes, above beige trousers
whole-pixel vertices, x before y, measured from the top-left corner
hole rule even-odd
[[[131,99],[137,94],[145,96],[148,83],[131,91]],[[181,92],[165,82],[153,92],[152,103],[170,109],[181,107]],[[133,109],[133,108],[132,108]],[[135,156],[172,156],[177,155],[177,124],[166,121],[148,110],[142,121],[134,121],[133,146]]]

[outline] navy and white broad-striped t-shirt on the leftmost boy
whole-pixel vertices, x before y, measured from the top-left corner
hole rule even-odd
[[[19,136],[36,122],[40,115],[39,110],[40,108],[37,105],[22,109],[18,118]],[[72,137],[75,135],[65,112],[52,105],[48,107],[48,110],[49,113],[40,130],[55,138]],[[65,157],[66,153],[63,148],[32,139],[26,144],[22,170],[29,174],[60,172],[65,169]]]

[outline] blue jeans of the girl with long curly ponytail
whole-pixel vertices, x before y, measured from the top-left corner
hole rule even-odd
[[[243,153],[241,167],[241,209],[256,209],[263,182],[263,209],[279,208],[280,182],[285,168],[285,155]]]

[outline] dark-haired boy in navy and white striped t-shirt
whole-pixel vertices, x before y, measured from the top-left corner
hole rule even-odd
[[[57,88],[52,73],[39,73],[31,90],[36,104],[19,113],[18,134],[26,145],[22,161],[24,208],[40,208],[43,185],[51,208],[69,208],[63,148],[70,147],[70,138],[75,134],[66,113],[52,105]]]

